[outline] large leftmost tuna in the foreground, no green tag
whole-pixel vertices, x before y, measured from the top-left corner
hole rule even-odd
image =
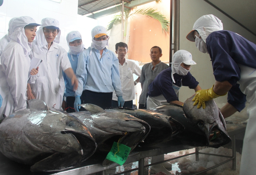
[[[0,151],[31,171],[58,171],[78,165],[97,148],[84,124],[37,99],[0,124]]]

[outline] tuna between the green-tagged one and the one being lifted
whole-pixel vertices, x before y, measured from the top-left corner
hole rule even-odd
[[[183,125],[172,117],[148,109],[111,108],[105,111],[123,112],[146,121],[151,130],[144,142],[139,144],[142,147],[168,142],[184,130]]]

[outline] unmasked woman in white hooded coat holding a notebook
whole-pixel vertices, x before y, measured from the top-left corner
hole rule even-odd
[[[12,24],[11,41],[0,57],[0,94],[3,97],[1,117],[27,107],[26,87],[29,80],[31,42],[40,25],[29,16],[15,18]],[[37,73],[38,70],[33,69],[30,75],[34,77]]]

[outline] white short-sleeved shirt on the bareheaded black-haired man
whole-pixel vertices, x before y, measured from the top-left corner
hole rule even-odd
[[[125,59],[123,66],[119,63],[119,73],[123,92],[123,99],[125,101],[133,100],[135,97],[135,87],[133,74],[140,77],[140,67],[133,60]],[[113,92],[112,100],[117,101],[116,92]]]

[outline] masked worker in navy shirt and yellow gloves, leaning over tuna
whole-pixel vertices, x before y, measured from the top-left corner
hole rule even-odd
[[[223,30],[221,20],[214,15],[201,16],[187,39],[195,41],[201,52],[209,53],[216,80],[212,88],[198,91],[194,105],[204,108],[204,102],[229,93],[228,103],[221,108],[223,116],[229,117],[241,111],[246,100],[250,103],[240,174],[253,175],[256,172],[256,45],[237,33]]]

